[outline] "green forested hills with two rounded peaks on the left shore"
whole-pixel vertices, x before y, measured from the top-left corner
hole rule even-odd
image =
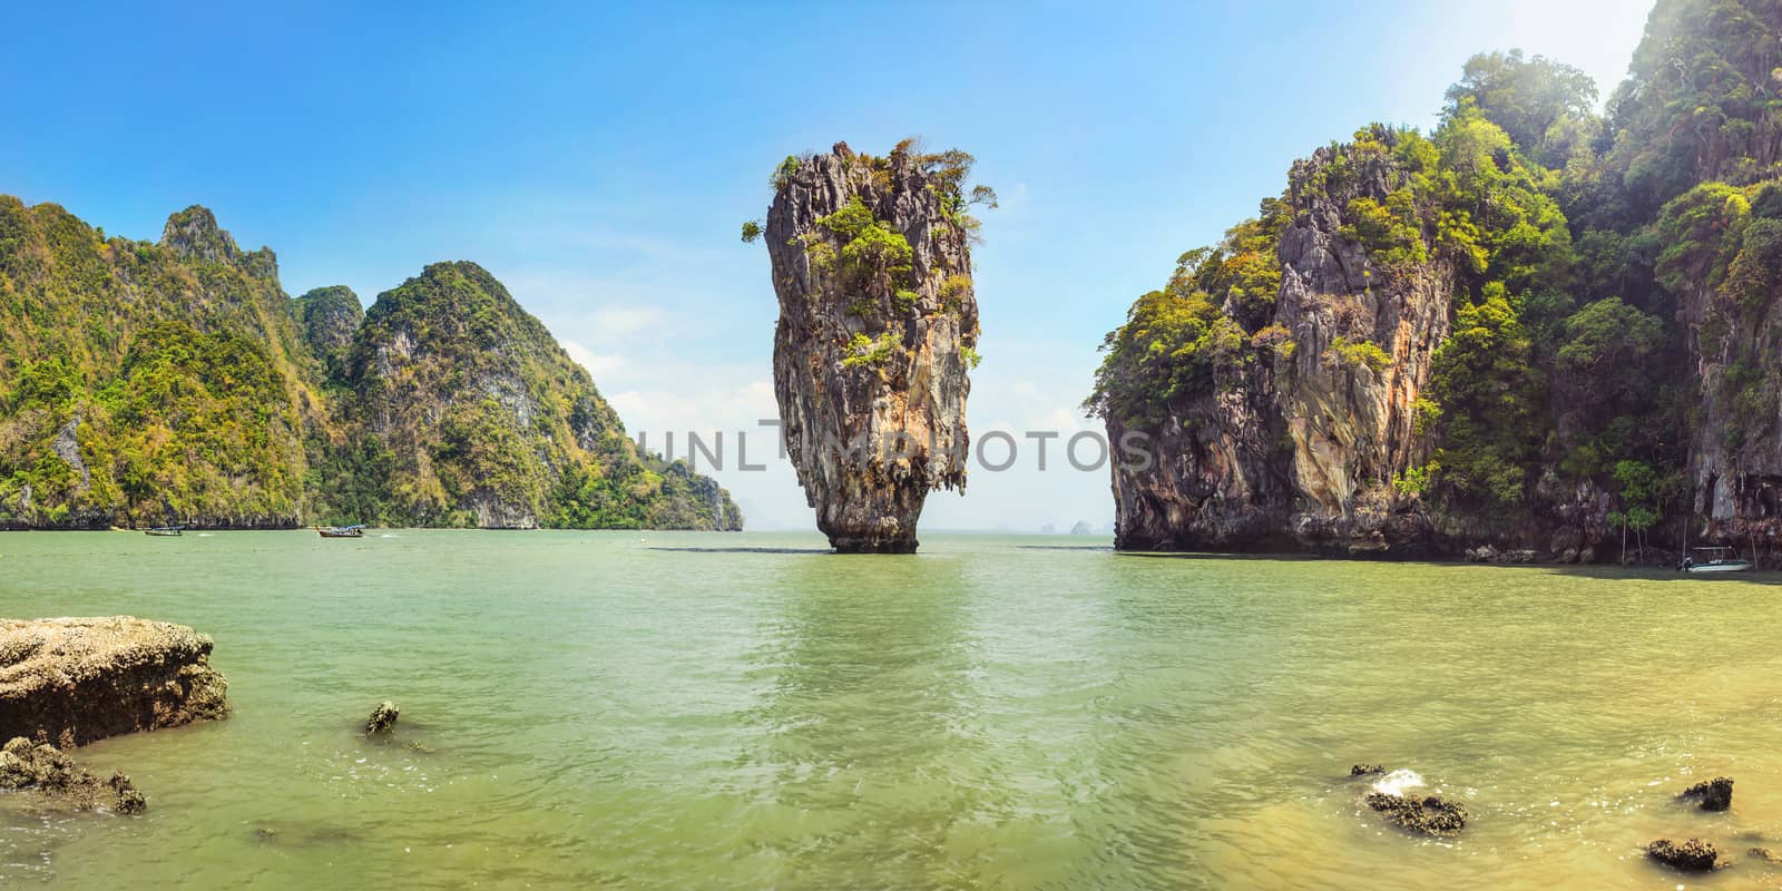
[[[203,207],[160,242],[0,196],[0,527],[740,529],[472,262],[290,299]]]

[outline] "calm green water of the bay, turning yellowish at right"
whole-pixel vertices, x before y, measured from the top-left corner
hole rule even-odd
[[[77,752],[141,818],[0,800],[0,886],[1782,887],[1775,577],[378,535],[0,535],[0,615],[194,625],[235,707]],[[1356,761],[1472,825],[1383,825]]]

